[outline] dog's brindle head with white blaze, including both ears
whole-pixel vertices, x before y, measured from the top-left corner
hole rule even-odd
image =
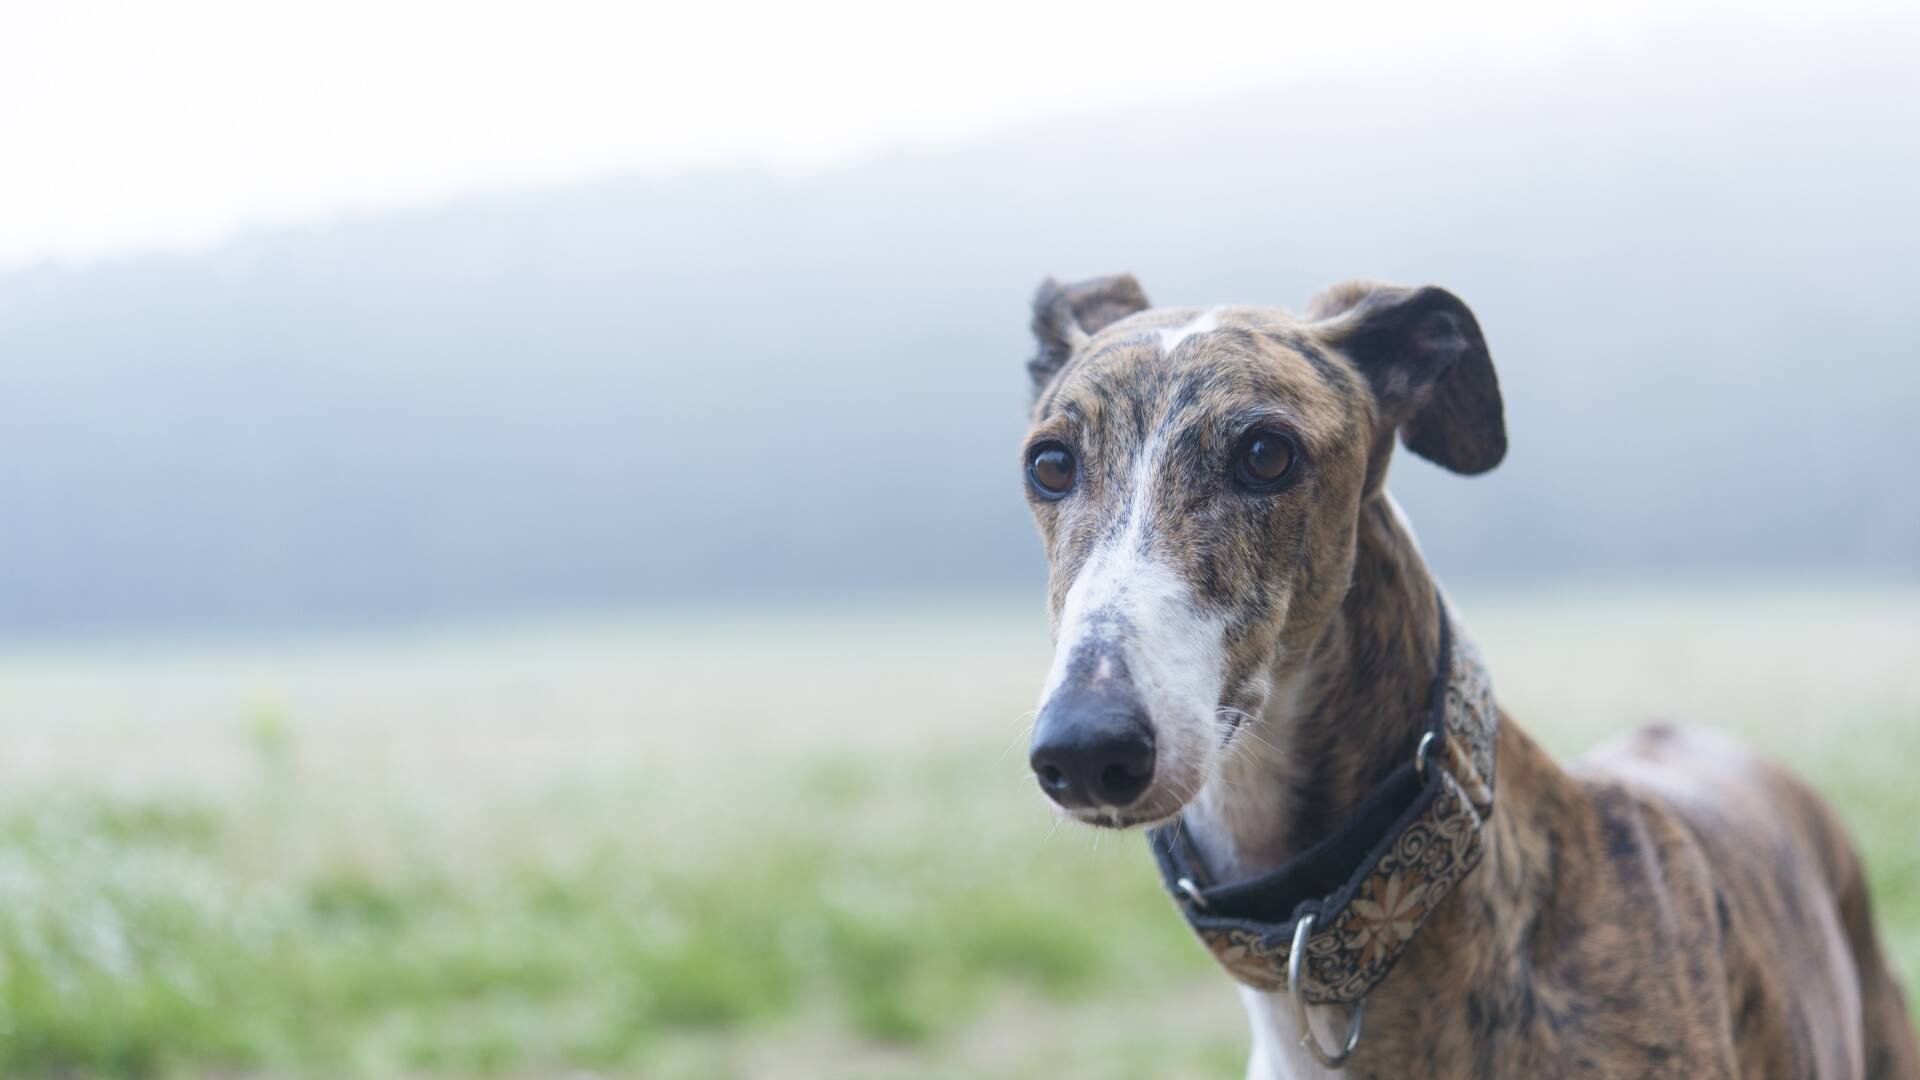
[[[1484,473],[1507,448],[1500,386],[1442,288],[1342,284],[1294,317],[1150,309],[1121,275],[1048,281],[1033,307],[1021,471],[1056,642],[1033,771],[1081,821],[1148,824],[1290,686],[1394,432]]]

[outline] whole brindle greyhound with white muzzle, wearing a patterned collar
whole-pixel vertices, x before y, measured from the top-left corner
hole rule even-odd
[[[1670,726],[1561,767],[1494,705],[1384,488],[1396,434],[1505,455],[1459,298],[1152,309],[1121,275],[1044,282],[1033,331],[1033,773],[1152,828],[1242,984],[1250,1076],[1920,1078],[1805,784]]]

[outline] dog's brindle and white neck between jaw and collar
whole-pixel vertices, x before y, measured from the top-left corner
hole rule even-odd
[[[1306,655],[1283,657],[1187,811],[1219,880],[1261,874],[1340,826],[1413,757],[1440,653],[1432,577],[1392,498],[1359,511],[1354,584]]]

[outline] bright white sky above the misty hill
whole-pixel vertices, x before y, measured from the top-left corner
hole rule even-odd
[[[1901,0],[0,0],[0,267],[710,165],[820,169],[1106,104],[1532,65]]]

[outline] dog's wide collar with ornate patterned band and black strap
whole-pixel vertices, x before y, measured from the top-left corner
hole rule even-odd
[[[1442,601],[1421,748],[1332,836],[1229,884],[1210,884],[1185,821],[1156,828],[1148,844],[1187,922],[1235,978],[1284,990],[1294,930],[1311,919],[1300,994],[1315,1005],[1359,1003],[1478,865],[1498,730],[1486,665]]]

